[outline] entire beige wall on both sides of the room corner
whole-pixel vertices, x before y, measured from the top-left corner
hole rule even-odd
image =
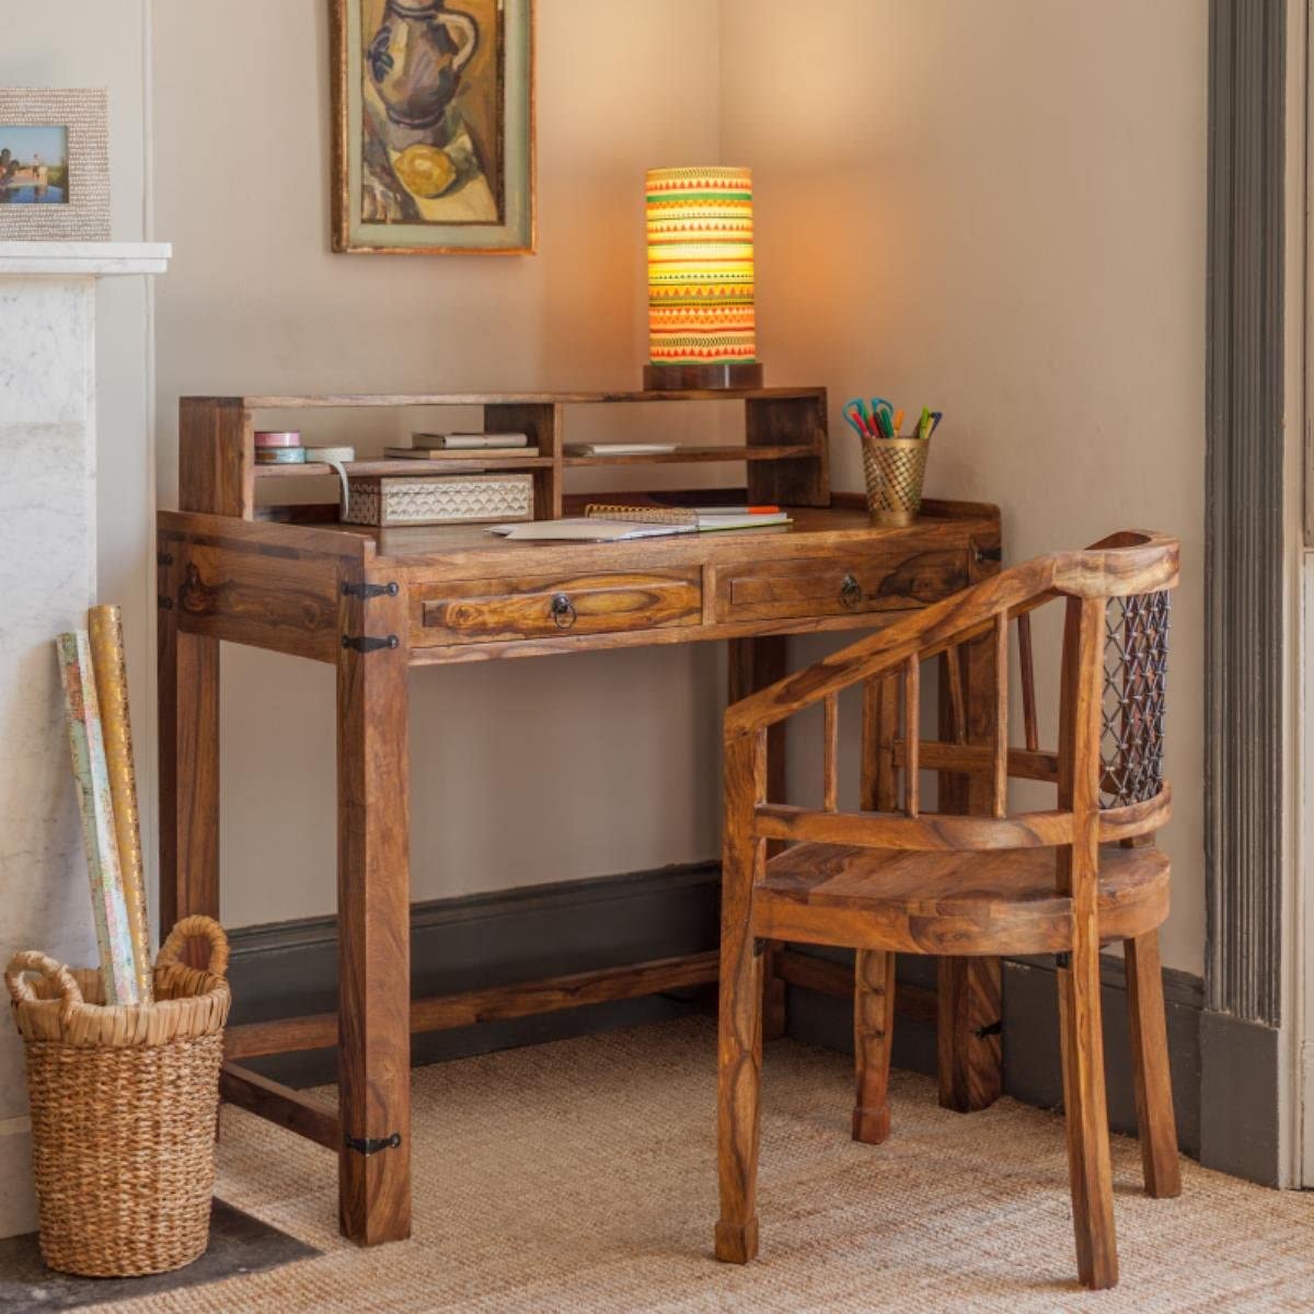
[[[830,388],[837,486],[861,486],[838,403],[875,389],[943,406],[930,486],[997,501],[1009,560],[1127,524],[1181,535],[1166,957],[1198,971],[1204,7],[539,9],[540,254],[406,260],[327,252],[325,7],[158,0],[164,499],[181,393],[636,381],[643,170],[750,164],[762,356],[777,382]],[[234,32],[259,34],[238,78],[212,58]],[[371,448],[396,424],[315,432]],[[717,662],[418,671],[415,897],[712,855]],[[331,673],[231,652],[225,678],[243,690],[225,702],[225,917],[327,912]]]

